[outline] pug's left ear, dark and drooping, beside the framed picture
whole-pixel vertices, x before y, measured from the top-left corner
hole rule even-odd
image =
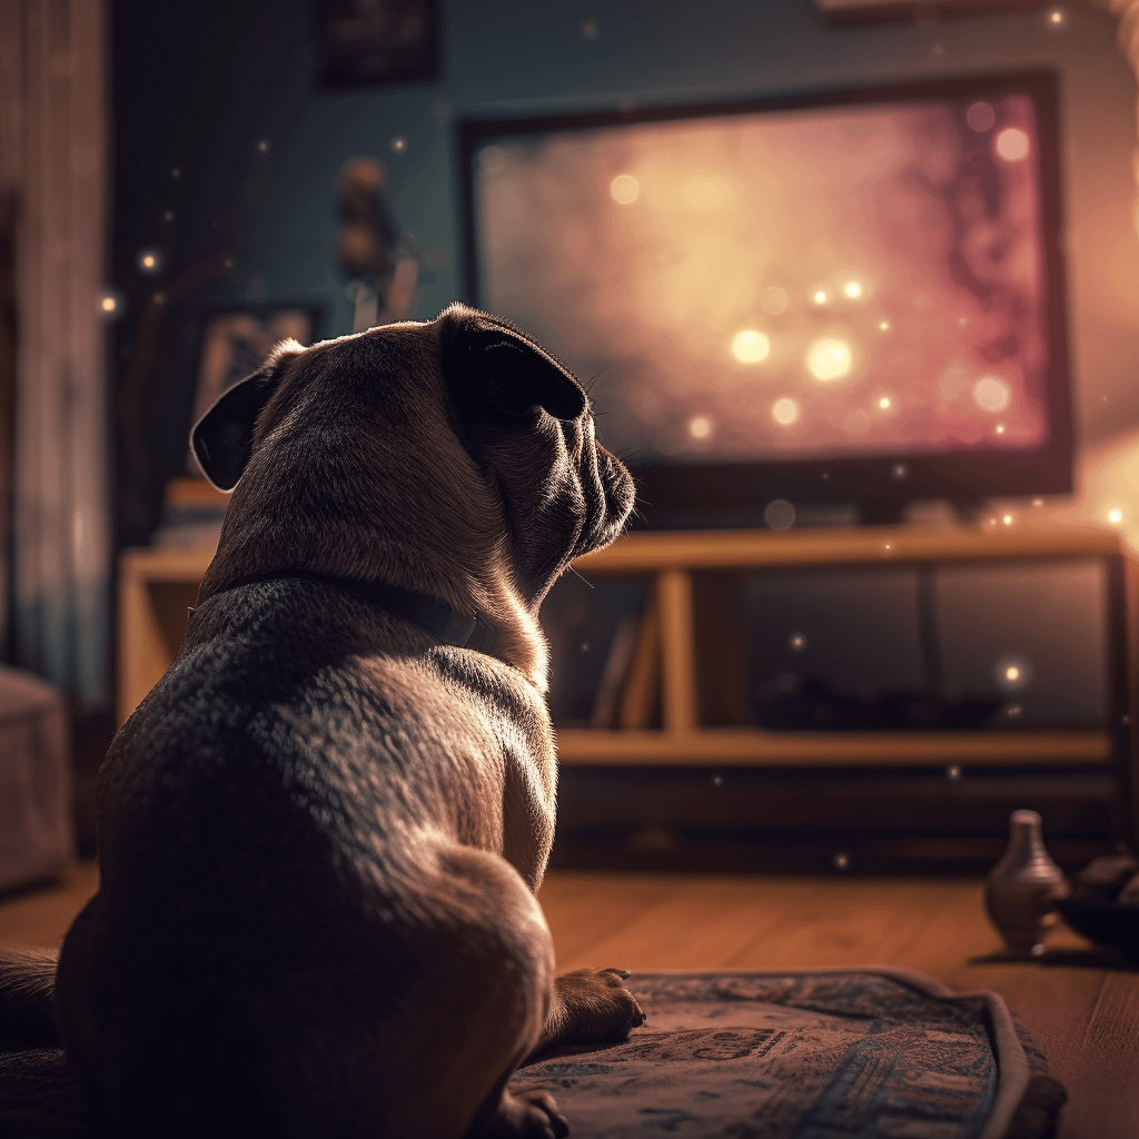
[[[223,392],[194,425],[194,458],[214,486],[231,491],[253,453],[253,433],[289,361],[301,351],[295,341],[276,347],[252,376]]]

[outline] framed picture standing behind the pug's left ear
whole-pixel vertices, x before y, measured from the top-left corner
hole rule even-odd
[[[233,305],[206,312],[198,344],[191,426],[222,392],[256,371],[281,341],[292,337],[306,345],[317,341],[322,319],[323,308],[308,302]],[[189,451],[186,468],[191,475],[202,474]]]

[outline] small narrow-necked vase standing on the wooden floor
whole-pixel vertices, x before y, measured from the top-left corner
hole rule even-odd
[[[1059,920],[1052,903],[1064,885],[1064,871],[1044,850],[1040,816],[1014,811],[1008,849],[985,880],[989,920],[1014,953],[1044,951],[1044,939]]]

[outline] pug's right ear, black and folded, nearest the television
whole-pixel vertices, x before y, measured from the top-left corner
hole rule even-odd
[[[507,416],[542,408],[576,419],[588,400],[573,374],[546,349],[499,317],[453,304],[443,321],[444,375],[460,405],[489,403]]]

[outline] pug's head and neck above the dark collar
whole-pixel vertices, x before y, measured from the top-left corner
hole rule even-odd
[[[216,486],[236,486],[203,599],[273,571],[382,580],[477,611],[508,653],[536,636],[571,559],[612,541],[633,505],[570,371],[459,304],[311,349],[286,342],[191,445]],[[519,620],[525,636],[508,629]]]

